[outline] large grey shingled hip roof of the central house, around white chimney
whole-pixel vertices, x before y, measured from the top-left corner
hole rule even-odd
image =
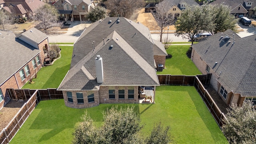
[[[98,90],[94,61],[97,55],[103,63],[102,86],[159,85],[150,31],[126,18],[117,20],[98,20],[84,30],[74,44],[70,70],[58,90]]]

